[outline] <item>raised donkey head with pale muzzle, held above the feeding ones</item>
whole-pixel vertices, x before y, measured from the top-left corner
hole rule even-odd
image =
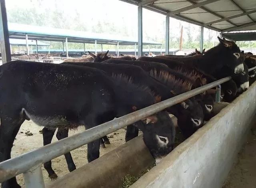
[[[224,57],[222,57],[223,62],[226,65],[234,70],[235,74],[242,73],[244,71],[244,64],[241,56],[241,51],[235,42],[226,40],[225,38],[221,39],[218,37],[220,41],[220,46],[222,46],[224,51]]]

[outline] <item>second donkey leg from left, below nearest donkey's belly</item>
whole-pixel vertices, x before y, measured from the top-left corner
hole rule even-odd
[[[44,127],[42,129],[44,146],[47,144],[50,144],[52,142],[52,137],[53,137],[55,131],[56,131],[56,129],[47,129],[46,127]],[[57,174],[52,169],[52,161],[51,160],[44,163],[44,168],[48,172],[49,178],[51,178],[51,179],[58,178]]]

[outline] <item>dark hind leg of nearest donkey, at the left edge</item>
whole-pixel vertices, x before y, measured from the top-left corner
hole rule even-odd
[[[19,115],[16,117],[1,116],[0,162],[11,158],[13,142],[23,122],[24,119]],[[20,185],[17,183],[16,177],[13,177],[2,182],[2,188],[20,188]]]

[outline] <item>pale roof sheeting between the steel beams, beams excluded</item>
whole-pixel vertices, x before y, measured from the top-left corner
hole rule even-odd
[[[130,2],[132,4],[139,4],[140,0],[122,0],[124,2]],[[171,12],[173,10],[178,10],[180,8],[188,7],[192,4],[198,4],[201,2],[208,2],[209,4],[203,4],[201,8],[192,8],[187,11],[178,12],[174,15],[171,15],[172,18],[177,18],[182,21],[187,21],[189,23],[194,23],[199,26],[204,26],[205,23],[213,22],[219,20],[221,18],[235,16],[238,14],[243,14],[246,11],[256,10],[256,0],[157,0],[153,4],[148,4],[143,6],[144,8],[148,8],[149,10],[159,12],[164,15],[168,15],[167,12]],[[240,7],[245,10],[241,10]],[[202,13],[202,12],[209,13]],[[200,12],[200,13],[199,13]],[[191,14],[192,13],[192,14]],[[255,14],[251,14],[254,21],[256,21]],[[212,24],[212,26],[204,26],[206,28],[218,30],[225,32],[226,29],[234,30],[235,26],[238,26],[236,30],[256,30],[256,25],[248,26],[246,28],[240,27],[241,24],[247,24],[253,22],[248,16],[236,17],[231,21],[227,20],[228,23],[226,25],[222,24]],[[231,23],[235,24],[232,25]]]

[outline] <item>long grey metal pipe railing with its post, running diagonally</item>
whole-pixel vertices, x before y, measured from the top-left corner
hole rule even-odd
[[[252,71],[253,69],[256,69],[256,67],[249,69],[249,71]],[[103,123],[83,131],[82,133],[72,135],[71,137],[48,144],[34,151],[3,161],[0,163],[0,182],[23,173],[26,188],[44,188],[44,180],[41,169],[41,165],[44,162],[48,162],[53,158],[66,154],[67,152],[88,144],[96,139],[100,139],[105,135],[135,123],[136,121],[139,121],[154,113],[162,111],[172,105],[176,105],[177,103],[198,95],[199,93],[211,89],[212,87],[216,87],[217,85],[229,81],[230,79],[231,77],[219,79],[202,87],[198,87],[144,109],[140,109],[112,121]]]

